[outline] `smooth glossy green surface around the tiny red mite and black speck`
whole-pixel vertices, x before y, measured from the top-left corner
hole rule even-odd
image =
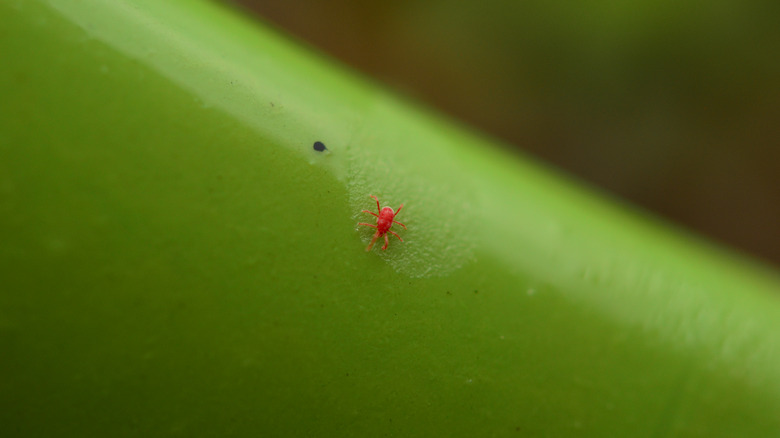
[[[208,3],[0,57],[3,436],[780,433],[776,273]]]

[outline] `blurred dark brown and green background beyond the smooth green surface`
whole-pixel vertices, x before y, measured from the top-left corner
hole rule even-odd
[[[780,266],[780,1],[217,1]]]

